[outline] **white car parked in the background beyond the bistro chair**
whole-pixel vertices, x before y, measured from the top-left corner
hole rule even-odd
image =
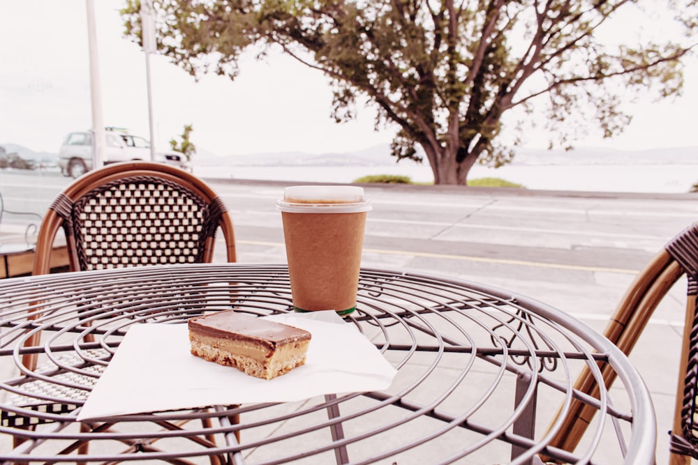
[[[92,169],[92,131],[70,132],[58,153],[58,165],[64,176],[77,178]],[[150,142],[121,130],[107,130],[105,164],[129,160],[150,160]],[[177,151],[157,151],[155,161],[191,171],[186,155]]]

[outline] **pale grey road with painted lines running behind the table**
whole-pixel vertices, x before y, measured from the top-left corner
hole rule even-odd
[[[240,261],[285,261],[275,202],[294,182],[207,180],[228,206]],[[0,171],[10,211],[43,214],[70,183],[57,173]],[[455,186],[365,185],[364,266],[454,275],[570,311],[607,313],[651,256],[698,218],[698,195],[604,194]],[[21,217],[5,215],[3,229]],[[26,221],[26,219],[24,220]],[[614,292],[600,305],[588,294]],[[617,284],[617,285],[616,285]],[[570,302],[570,294],[583,291]],[[598,287],[602,286],[602,287]],[[541,287],[547,290],[540,293]],[[614,300],[615,298],[615,300]]]

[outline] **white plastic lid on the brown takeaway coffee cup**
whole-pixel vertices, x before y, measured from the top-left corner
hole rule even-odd
[[[276,208],[290,213],[359,213],[371,210],[364,188],[354,185],[294,185],[283,190]]]

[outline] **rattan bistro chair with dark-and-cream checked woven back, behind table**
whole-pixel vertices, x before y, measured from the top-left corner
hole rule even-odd
[[[70,271],[211,262],[218,230],[223,233],[227,260],[236,261],[232,220],[221,198],[200,178],[161,163],[114,163],[73,181],[54,199],[43,218],[36,241],[34,274],[50,273],[53,243],[61,229],[68,245]],[[40,318],[40,312],[28,318]],[[84,340],[93,342],[94,337],[90,333]],[[40,333],[37,332],[27,337],[24,347],[38,344]],[[96,359],[108,356],[101,349],[87,352]],[[96,380],[97,376],[80,374],[85,364],[80,357],[76,358],[77,361],[59,364],[78,369],[74,373],[66,369],[66,386],[58,388],[69,390],[75,383],[89,388]],[[31,372],[42,370],[31,351],[22,356],[22,365]],[[47,365],[52,365],[48,369],[61,369],[54,362]],[[89,369],[101,372],[104,365]],[[57,389],[57,386],[49,387]],[[84,400],[86,391],[76,391],[76,398]],[[46,395],[50,398],[69,394],[48,392]],[[47,403],[38,408],[52,412],[53,406]],[[21,425],[22,418],[3,412],[2,421]],[[22,440],[15,437],[15,445]],[[80,445],[84,447],[87,446]],[[217,463],[215,457],[211,462]]]

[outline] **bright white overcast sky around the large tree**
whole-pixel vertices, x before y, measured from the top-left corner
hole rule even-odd
[[[68,132],[91,128],[87,1],[0,0],[0,144],[56,153]],[[123,3],[94,0],[101,112],[105,125],[150,138],[146,56],[123,37]],[[682,97],[630,105],[634,119],[623,135],[577,146],[698,146],[696,63],[685,77]],[[329,80],[281,54],[245,59],[235,81],[205,75],[198,82],[153,54],[150,79],[156,148],[168,148],[186,124],[199,153],[215,155],[358,151],[389,143],[395,132],[374,130],[371,107],[334,123]],[[525,146],[546,144],[543,134],[527,134]]]

